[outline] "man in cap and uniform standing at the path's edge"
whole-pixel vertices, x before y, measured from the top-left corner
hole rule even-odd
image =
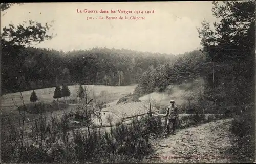
[[[176,120],[179,118],[178,107],[174,105],[175,101],[170,100],[170,106],[168,106],[164,117],[167,116],[167,134],[170,134],[170,124],[172,123],[173,134],[175,135],[175,124]]]

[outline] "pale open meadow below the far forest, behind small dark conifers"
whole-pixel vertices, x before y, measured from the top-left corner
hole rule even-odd
[[[76,98],[76,92],[78,90],[79,86],[69,86],[71,95],[68,99],[75,99]],[[129,94],[130,92],[133,93],[134,88],[136,85],[131,86],[97,86],[97,85],[87,85],[89,91],[90,91],[90,97],[96,97],[97,99],[104,101],[106,103],[115,101],[122,96]],[[39,98],[40,102],[52,102],[54,100],[53,94],[54,94],[55,88],[44,88],[44,89],[37,89],[35,90],[37,97]],[[30,95],[32,91],[24,91],[22,92],[22,96],[24,99],[25,104],[30,103]],[[13,110],[17,110],[13,100],[17,103],[18,106],[22,105],[22,99],[20,98],[20,93],[10,93],[3,95],[1,97],[1,111],[8,111],[11,112]],[[61,98],[60,100],[64,100],[64,98]]]

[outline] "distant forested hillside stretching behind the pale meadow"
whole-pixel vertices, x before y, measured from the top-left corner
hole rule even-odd
[[[5,93],[76,83],[135,84],[144,71],[177,58],[167,54],[98,47],[65,53],[3,43],[2,92]]]

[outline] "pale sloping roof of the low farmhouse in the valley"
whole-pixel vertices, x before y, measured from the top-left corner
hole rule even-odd
[[[102,112],[113,112],[120,118],[127,118],[147,114],[150,105],[145,102],[122,103],[110,107],[103,108]],[[151,106],[152,112],[158,112],[157,108]]]

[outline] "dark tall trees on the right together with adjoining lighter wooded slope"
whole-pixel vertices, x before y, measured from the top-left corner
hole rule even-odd
[[[209,22],[202,22],[198,32],[203,48],[144,72],[137,93],[163,91],[170,84],[203,78],[209,100],[228,105],[254,102],[255,2],[213,4],[213,15],[221,21],[213,29]]]

